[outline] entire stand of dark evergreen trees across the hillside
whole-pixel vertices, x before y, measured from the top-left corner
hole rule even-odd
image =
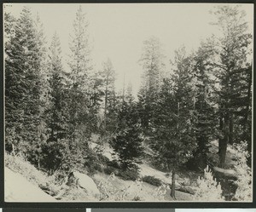
[[[6,152],[49,173],[68,172],[84,168],[94,154],[88,142],[99,135],[127,170],[137,169],[148,145],[154,163],[172,171],[172,197],[176,170],[205,169],[212,140],[218,140],[219,168],[225,168],[229,144],[246,142],[251,156],[253,35],[239,7],[218,6],[212,14],[220,35],[191,53],[177,49],[172,70],[166,70],[160,40],[144,41],[136,98],[131,83],[116,89],[110,59],[101,70],[92,65],[89,20],[81,7],[67,68],[57,32],[47,44],[39,16],[27,7],[18,18],[5,13]]]

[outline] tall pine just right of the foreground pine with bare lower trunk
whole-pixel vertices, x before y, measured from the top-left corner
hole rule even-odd
[[[217,116],[214,108],[215,95],[213,94],[214,81],[212,80],[212,56],[214,51],[211,45],[201,43],[201,47],[191,55],[193,60],[193,76],[195,81],[195,129],[197,148],[189,166],[204,169],[207,166],[207,153],[210,140],[217,134]]]

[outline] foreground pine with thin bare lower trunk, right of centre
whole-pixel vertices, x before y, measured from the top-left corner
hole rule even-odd
[[[177,169],[191,158],[196,147],[194,84],[191,59],[184,49],[176,51],[172,78],[165,78],[160,90],[154,118],[152,148],[155,157],[167,170],[172,170],[172,198],[175,198]]]

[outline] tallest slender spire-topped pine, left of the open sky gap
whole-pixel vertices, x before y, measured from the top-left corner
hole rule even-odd
[[[90,98],[93,95],[93,74],[90,60],[88,21],[79,6],[73,22],[73,37],[70,43],[68,65],[69,86],[69,147],[72,152],[87,149],[84,138],[90,138]],[[83,139],[82,139],[83,138]]]

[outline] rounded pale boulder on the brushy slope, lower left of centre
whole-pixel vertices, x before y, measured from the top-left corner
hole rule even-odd
[[[73,171],[69,174],[67,180],[67,186],[80,186],[84,188],[86,192],[93,194],[95,196],[100,195],[100,191],[96,186],[94,180],[90,176],[80,173],[79,171]]]

